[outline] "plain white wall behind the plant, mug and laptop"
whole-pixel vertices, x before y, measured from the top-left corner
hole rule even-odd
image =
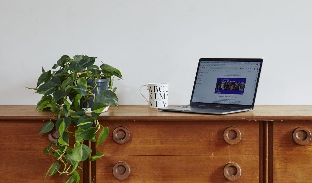
[[[1,105],[37,104],[41,66],[61,55],[119,68],[119,104],[168,82],[188,104],[199,58],[263,58],[256,104],[312,104],[310,0],[1,0]],[[146,94],[147,95],[147,94]]]

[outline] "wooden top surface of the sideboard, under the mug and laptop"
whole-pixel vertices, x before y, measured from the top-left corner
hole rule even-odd
[[[149,108],[147,105],[121,105],[110,109],[99,116],[101,120],[144,120],[144,121],[270,121],[270,120],[310,120],[312,121],[312,105],[256,105],[251,111],[225,115],[209,115],[195,113],[165,112]],[[35,106],[0,106],[0,121],[8,119],[50,119],[50,111],[36,112]]]

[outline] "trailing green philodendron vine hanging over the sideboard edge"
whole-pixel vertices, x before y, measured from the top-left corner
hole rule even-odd
[[[90,161],[95,161],[104,156],[102,152],[96,152],[91,156],[92,150],[84,142],[88,140],[96,142],[98,147],[107,137],[109,129],[103,127],[97,118],[109,105],[118,107],[113,82],[115,76],[121,79],[121,73],[118,69],[104,63],[100,68],[93,65],[95,58],[75,55],[72,59],[63,55],[52,67],[58,70],[45,71],[42,67],[37,87],[29,88],[43,94],[36,110],[50,109],[54,113],[50,121],[43,125],[39,134],[50,132],[53,128],[60,133],[57,142],[51,142],[43,151],[43,154],[50,154],[56,159],[48,169],[45,178],[59,173],[69,175],[66,183],[79,182],[77,168],[82,169],[79,162],[85,161],[88,157]],[[110,78],[109,89],[100,94],[94,93],[93,90],[97,91],[96,83],[92,87],[87,84],[87,80],[103,78]],[[82,104],[87,99],[95,101],[88,115],[87,109],[82,109]],[[96,138],[98,132],[100,134]],[[75,137],[75,142],[69,140],[71,136]]]

